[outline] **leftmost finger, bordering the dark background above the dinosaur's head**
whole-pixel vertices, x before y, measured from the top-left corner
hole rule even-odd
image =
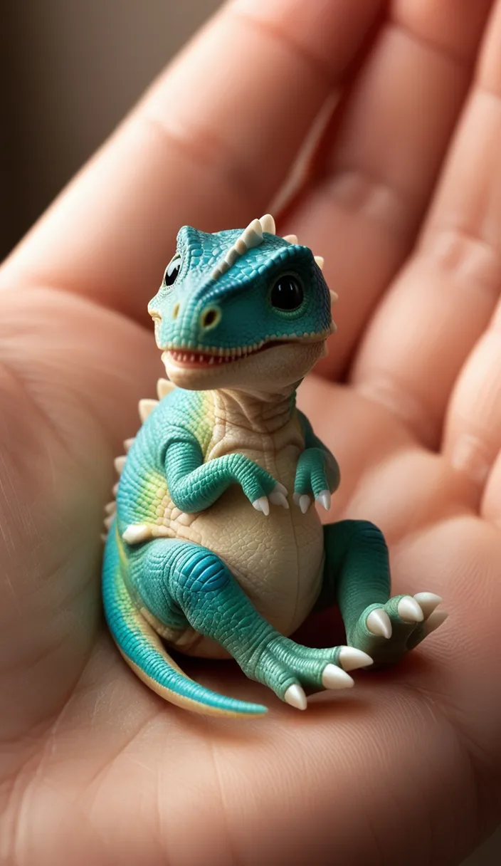
[[[235,0],[161,76],[3,270],[143,314],[183,223],[266,209],[380,0]]]

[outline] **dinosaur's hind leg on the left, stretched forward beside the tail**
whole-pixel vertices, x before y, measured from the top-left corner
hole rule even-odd
[[[132,554],[130,575],[155,617],[165,622],[166,612],[172,617],[177,611],[177,617],[186,617],[194,630],[227,650],[248,677],[292,706],[305,708],[304,688],[352,685],[344,669],[368,662],[356,650],[310,649],[280,635],[256,611],[222,559],[189,541],[149,542]]]

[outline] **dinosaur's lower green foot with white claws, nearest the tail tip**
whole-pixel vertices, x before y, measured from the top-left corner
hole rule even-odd
[[[254,671],[248,673],[272,688],[282,701],[306,709],[305,689],[312,693],[324,688],[351,688],[354,681],[347,671],[370,664],[370,656],[355,647],[314,650],[280,636],[267,643]]]

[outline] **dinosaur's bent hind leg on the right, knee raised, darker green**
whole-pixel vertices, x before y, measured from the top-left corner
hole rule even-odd
[[[444,620],[433,592],[390,597],[388,549],[365,520],[324,527],[324,585],[318,606],[336,603],[350,646],[378,664],[398,661]]]

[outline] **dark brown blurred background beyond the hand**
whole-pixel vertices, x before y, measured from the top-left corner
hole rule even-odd
[[[219,4],[18,0],[0,5],[0,258]],[[497,863],[501,832],[464,866]]]

